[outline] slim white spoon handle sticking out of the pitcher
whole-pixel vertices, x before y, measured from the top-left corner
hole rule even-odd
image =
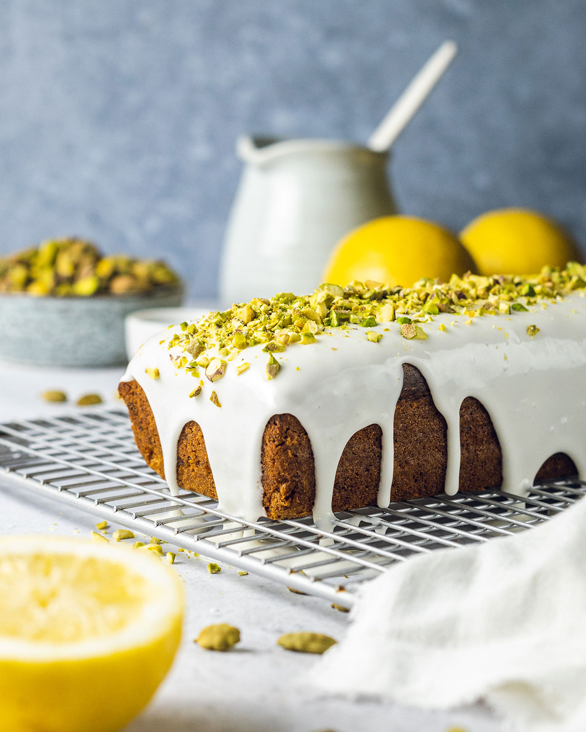
[[[390,108],[385,119],[372,133],[368,140],[368,147],[371,150],[383,152],[390,148],[442,77],[450,65],[450,61],[456,56],[456,51],[458,51],[458,47],[453,41],[445,41],[426,61],[407,89]]]

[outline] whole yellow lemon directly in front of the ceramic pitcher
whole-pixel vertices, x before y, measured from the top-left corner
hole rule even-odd
[[[437,223],[410,216],[385,216],[351,231],[335,247],[323,281],[347,285],[374,280],[409,286],[421,277],[449,280],[476,272],[456,236]]]

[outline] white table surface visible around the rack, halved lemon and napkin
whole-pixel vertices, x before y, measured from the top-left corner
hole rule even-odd
[[[75,410],[75,399],[97,392],[111,405],[121,369],[49,369],[0,362],[0,422]],[[45,403],[40,392],[62,389],[69,406]],[[31,504],[10,479],[0,477],[3,534],[28,532],[87,536],[97,518],[38,498]],[[112,526],[111,529],[119,528]],[[75,533],[75,530],[79,534]],[[108,532],[109,533],[109,532]],[[188,610],[182,646],[154,701],[126,732],[497,732],[502,725],[481,707],[428,712],[374,701],[318,698],[303,689],[305,671],[315,662],[275,645],[283,632],[312,630],[341,638],[348,615],[324,600],[292,594],[253,575],[240,577],[224,566],[209,575],[207,560],[182,559],[174,565],[185,580]],[[240,628],[242,641],[229,653],[193,643],[201,627],[227,622]],[[446,669],[446,673],[450,670]]]

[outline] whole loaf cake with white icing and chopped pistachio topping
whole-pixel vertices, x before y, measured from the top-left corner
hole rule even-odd
[[[171,492],[300,518],[586,468],[586,267],[321,285],[142,346],[119,385]]]

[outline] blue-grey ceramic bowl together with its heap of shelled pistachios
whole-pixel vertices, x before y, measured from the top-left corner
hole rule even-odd
[[[104,256],[51,239],[0,258],[0,359],[39,366],[126,363],[125,317],[179,307],[184,288],[161,261]]]

